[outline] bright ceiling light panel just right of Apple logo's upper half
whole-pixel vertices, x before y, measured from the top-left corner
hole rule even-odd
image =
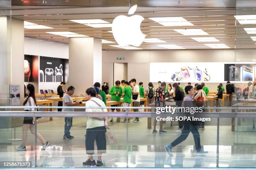
[[[194,25],[182,17],[153,17],[149,18],[164,26],[189,26]]]

